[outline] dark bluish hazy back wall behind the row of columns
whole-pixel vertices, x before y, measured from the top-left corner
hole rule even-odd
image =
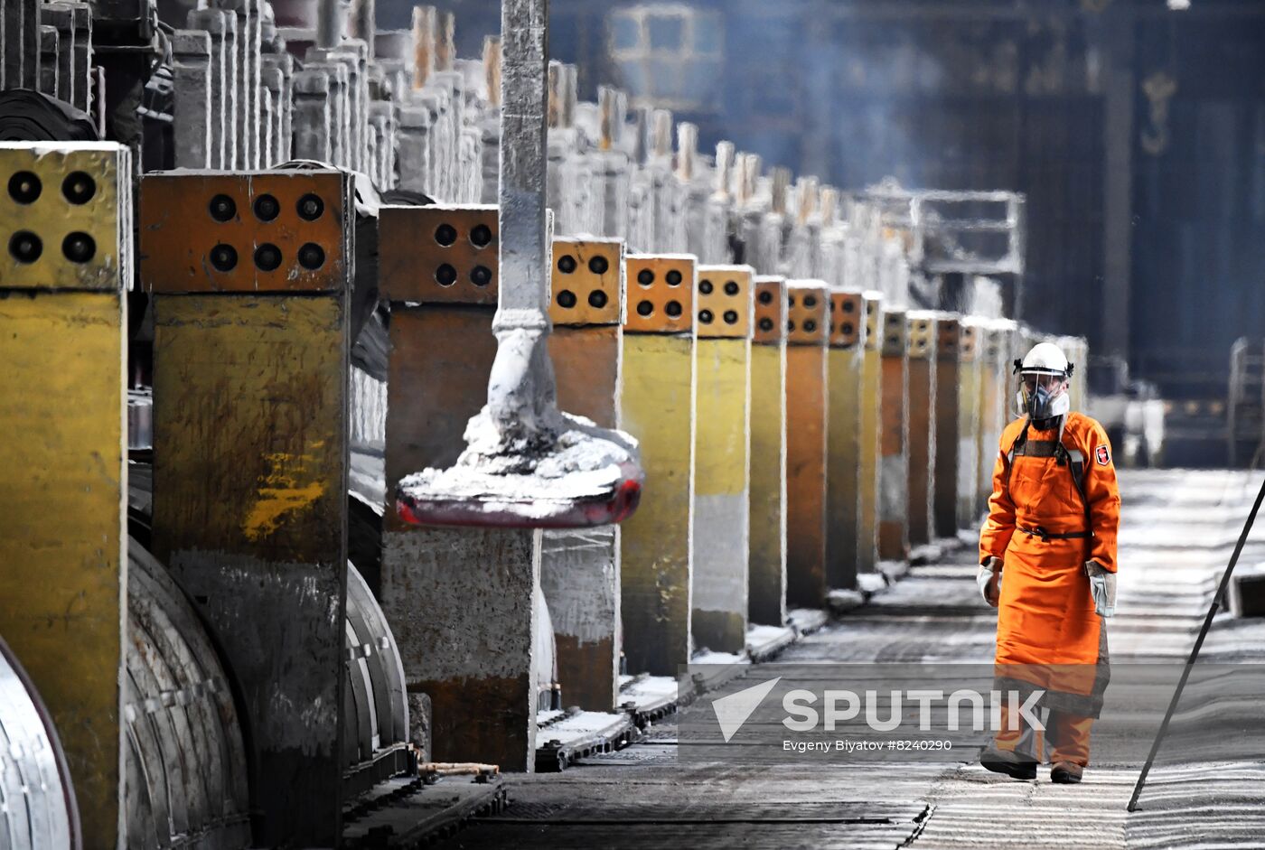
[[[462,56],[498,30],[493,0],[438,5]],[[655,5],[553,0],[582,96],[673,99],[703,145],[845,188],[1027,194],[1020,317],[1170,395],[1222,395],[1230,344],[1265,335],[1265,1],[697,0],[654,13],[694,10],[697,44],[630,62],[620,19]]]

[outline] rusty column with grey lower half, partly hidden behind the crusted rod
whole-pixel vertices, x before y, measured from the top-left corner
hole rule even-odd
[[[387,493],[417,469],[450,467],[487,403],[498,234],[496,206],[379,211],[378,287],[391,302]],[[534,768],[538,576],[536,531],[417,526],[387,510],[382,610],[400,644],[410,712],[423,713],[421,694],[430,698],[436,760]]]

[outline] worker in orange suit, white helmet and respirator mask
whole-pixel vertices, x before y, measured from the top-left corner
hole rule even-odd
[[[1002,433],[978,577],[998,608],[994,691],[1003,694],[1002,729],[980,764],[1035,779],[1044,725],[1050,780],[1065,784],[1080,782],[1089,763],[1089,727],[1109,678],[1120,524],[1111,443],[1102,425],[1070,410],[1071,371],[1050,343],[1015,362],[1020,419]]]

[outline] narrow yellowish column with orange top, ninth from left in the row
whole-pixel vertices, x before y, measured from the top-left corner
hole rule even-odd
[[[826,583],[856,587],[860,560],[861,362],[860,292],[830,293],[830,434],[826,471]]]

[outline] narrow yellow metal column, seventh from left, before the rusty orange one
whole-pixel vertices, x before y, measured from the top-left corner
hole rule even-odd
[[[755,278],[748,617],[787,621],[787,285]]]

